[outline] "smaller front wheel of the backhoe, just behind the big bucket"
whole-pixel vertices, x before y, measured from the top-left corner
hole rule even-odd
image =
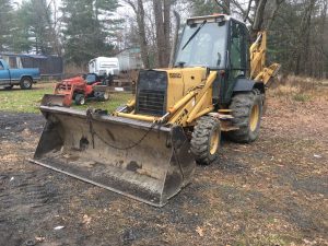
[[[209,165],[218,159],[221,142],[220,121],[210,116],[197,120],[191,138],[191,152],[196,162]]]

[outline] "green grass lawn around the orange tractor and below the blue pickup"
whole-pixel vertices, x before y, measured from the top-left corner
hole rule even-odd
[[[32,90],[21,90],[14,87],[10,91],[0,89],[0,110],[16,113],[39,113],[39,104],[44,94],[52,93],[54,83],[37,83]],[[107,109],[108,113],[115,110],[119,105],[132,98],[131,94],[112,94],[107,102],[86,101],[83,106],[72,104],[73,108],[85,110],[87,107]]]

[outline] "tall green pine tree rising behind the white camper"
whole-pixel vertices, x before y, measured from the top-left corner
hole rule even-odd
[[[65,58],[78,66],[96,56],[108,56],[113,49],[109,40],[114,23],[109,20],[117,9],[116,0],[65,0],[63,45]]]

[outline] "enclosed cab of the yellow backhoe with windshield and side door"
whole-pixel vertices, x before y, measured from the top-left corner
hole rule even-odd
[[[245,23],[227,15],[188,19],[178,45],[175,67],[206,67],[219,71],[213,101],[227,105],[237,80],[249,78],[249,34]],[[250,86],[251,81],[244,81]]]

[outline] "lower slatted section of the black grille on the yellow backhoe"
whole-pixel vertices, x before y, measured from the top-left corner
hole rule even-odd
[[[165,91],[140,90],[138,96],[140,114],[162,116],[165,114]]]

